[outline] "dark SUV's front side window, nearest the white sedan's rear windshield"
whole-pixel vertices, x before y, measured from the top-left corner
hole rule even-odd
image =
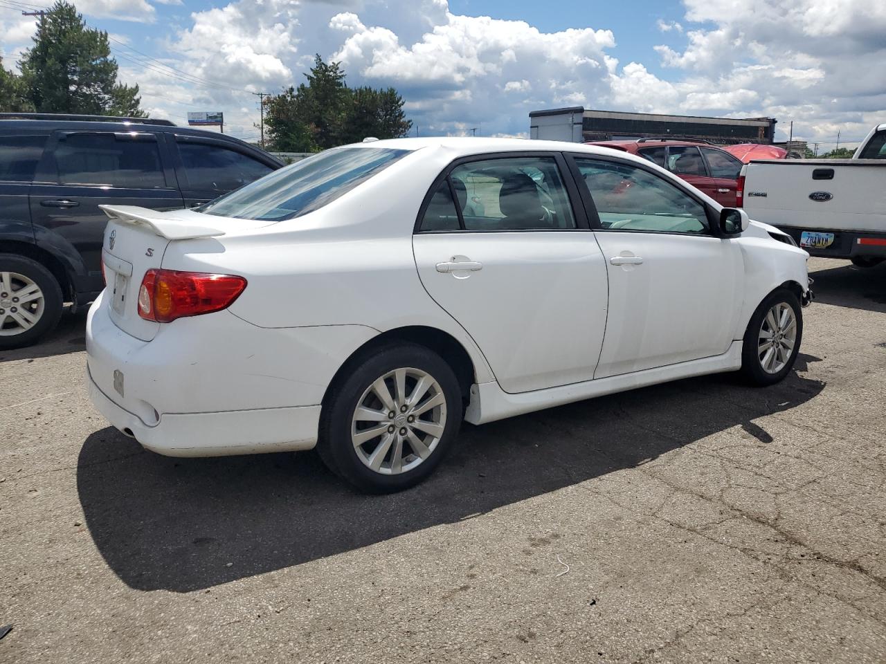
[[[258,159],[217,144],[180,141],[178,151],[191,189],[230,191],[274,170]]]

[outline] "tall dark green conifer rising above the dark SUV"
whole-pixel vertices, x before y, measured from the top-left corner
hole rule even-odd
[[[86,27],[64,0],[40,18],[21,75],[38,112],[144,117],[138,86],[117,83],[107,33]]]

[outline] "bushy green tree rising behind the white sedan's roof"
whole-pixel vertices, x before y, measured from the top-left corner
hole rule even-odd
[[[412,127],[393,88],[348,88],[340,64],[327,64],[319,55],[305,76],[307,84],[268,101],[265,122],[272,150],[325,150],[366,136],[397,138]]]

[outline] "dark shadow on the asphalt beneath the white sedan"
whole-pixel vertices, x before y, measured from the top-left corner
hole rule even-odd
[[[815,360],[801,355],[797,368]],[[766,389],[705,376],[465,425],[431,478],[386,496],[351,490],[315,452],[173,459],[108,428],[83,444],[77,490],[98,551],[124,583],[197,591],[461,521],[725,429],[768,443],[754,420],[824,386],[796,373]]]

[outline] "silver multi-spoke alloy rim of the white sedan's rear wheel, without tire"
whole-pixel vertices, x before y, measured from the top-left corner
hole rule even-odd
[[[446,429],[446,395],[422,369],[403,367],[363,392],[351,440],[364,466],[382,475],[406,473],[428,459]]]

